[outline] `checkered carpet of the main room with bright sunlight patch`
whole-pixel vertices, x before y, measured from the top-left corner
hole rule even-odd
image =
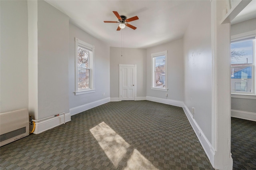
[[[213,169],[180,107],[109,102],[0,148],[0,169]]]

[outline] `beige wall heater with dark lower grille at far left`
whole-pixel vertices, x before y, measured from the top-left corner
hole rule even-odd
[[[0,146],[28,135],[28,109],[0,113]]]

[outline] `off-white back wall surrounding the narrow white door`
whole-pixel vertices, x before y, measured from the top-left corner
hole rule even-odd
[[[146,49],[110,47],[110,97],[112,99],[119,97],[119,64],[137,65],[137,97],[146,98]]]

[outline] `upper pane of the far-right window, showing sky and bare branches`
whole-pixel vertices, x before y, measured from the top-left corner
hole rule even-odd
[[[231,64],[252,64],[253,63],[253,41],[246,40],[231,43]]]

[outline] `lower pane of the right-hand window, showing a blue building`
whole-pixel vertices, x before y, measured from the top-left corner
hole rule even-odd
[[[252,66],[231,68],[231,91],[252,92]]]

